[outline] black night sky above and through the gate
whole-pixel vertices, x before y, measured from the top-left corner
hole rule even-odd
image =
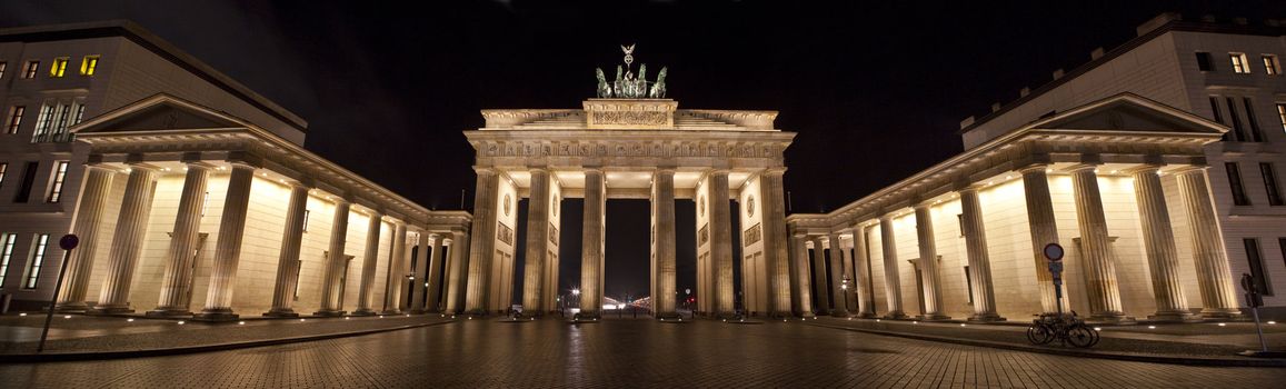
[[[472,207],[460,131],[482,126],[480,109],[579,108],[594,67],[637,42],[637,63],[670,68],[679,108],[779,110],[777,127],[799,132],[786,153],[792,208],[824,212],[959,153],[961,119],[1161,12],[1286,17],[1286,1],[1214,0],[440,3],[5,0],[0,27],[132,19],[307,119],[309,150],[435,209],[459,209],[462,189]],[[685,203],[680,289],[694,276]],[[579,200],[565,208],[566,288],[580,275],[568,261]],[[647,203],[608,209],[607,293],[646,294]]]

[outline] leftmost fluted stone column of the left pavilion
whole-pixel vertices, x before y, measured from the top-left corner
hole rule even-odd
[[[85,190],[80,195],[80,209],[76,211],[76,223],[72,234],[80,238],[80,246],[72,250],[63,276],[63,289],[58,293],[59,312],[82,312],[89,309],[85,295],[89,291],[90,272],[94,271],[94,254],[98,246],[98,227],[107,208],[107,196],[112,193],[114,171],[99,166],[85,166]]]

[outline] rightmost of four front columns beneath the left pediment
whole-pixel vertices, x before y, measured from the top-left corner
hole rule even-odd
[[[215,243],[215,268],[210,273],[206,307],[197,315],[204,320],[239,317],[233,313],[233,286],[237,281],[237,266],[240,263],[240,245],[242,238],[246,235],[246,216],[249,209],[255,167],[237,162],[231,166],[233,172],[228,177],[228,195],[224,198],[224,213],[219,220],[219,241]]]

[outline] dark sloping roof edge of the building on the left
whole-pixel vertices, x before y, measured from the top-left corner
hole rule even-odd
[[[100,21],[67,24],[46,24],[32,27],[0,28],[0,42],[45,42],[96,37],[125,37],[152,53],[177,64],[197,77],[244,100],[255,108],[285,122],[288,126],[307,132],[309,123],[300,116],[282,108],[267,98],[252,91],[231,77],[220,73],[213,67],[195,56],[184,53],[177,46],[130,21]]]

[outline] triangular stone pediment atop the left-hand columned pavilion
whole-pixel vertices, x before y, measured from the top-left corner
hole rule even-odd
[[[75,128],[75,132],[102,134],[240,127],[246,127],[246,125],[202,107],[163,96],[139,101],[103,114],[80,126],[80,128]]]

